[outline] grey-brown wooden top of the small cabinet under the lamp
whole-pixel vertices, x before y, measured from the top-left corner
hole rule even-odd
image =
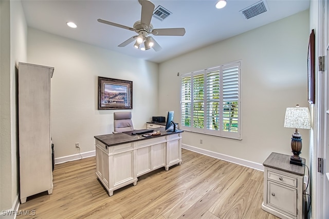
[[[298,166],[289,163],[290,156],[272,152],[263,162],[265,167],[270,167],[277,170],[282,170],[288,173],[303,176],[305,174],[305,166]],[[302,158],[302,163],[305,164],[305,159]]]

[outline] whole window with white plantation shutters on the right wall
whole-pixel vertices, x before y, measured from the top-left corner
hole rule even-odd
[[[181,129],[241,139],[240,62],[181,76]]]

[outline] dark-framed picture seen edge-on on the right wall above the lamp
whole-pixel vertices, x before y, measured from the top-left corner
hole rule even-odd
[[[315,103],[315,33],[309,35],[307,54],[308,103]]]

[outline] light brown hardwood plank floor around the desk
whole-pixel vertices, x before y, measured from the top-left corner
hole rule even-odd
[[[181,165],[143,175],[111,197],[95,171],[95,157],[56,165],[53,193],[28,197],[19,212],[35,215],[16,218],[278,218],[261,209],[262,171],[188,150]]]

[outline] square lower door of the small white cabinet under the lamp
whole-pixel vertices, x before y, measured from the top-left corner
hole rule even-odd
[[[267,181],[267,203],[273,208],[297,216],[297,189]]]

